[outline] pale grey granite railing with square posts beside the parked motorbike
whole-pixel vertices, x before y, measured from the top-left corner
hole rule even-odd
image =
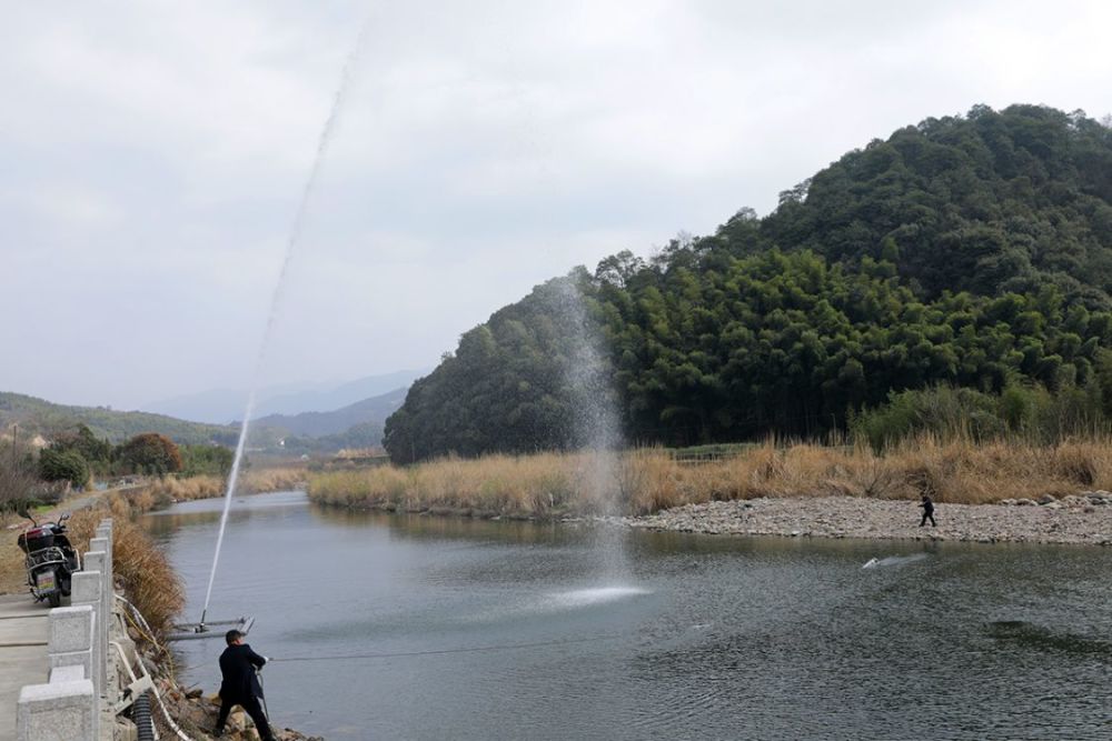
[[[82,570],[73,574],[71,607],[50,611],[49,681],[20,691],[18,741],[112,738],[109,698],[118,690],[116,671],[109,671],[113,600],[112,521],[102,520],[89,541]]]

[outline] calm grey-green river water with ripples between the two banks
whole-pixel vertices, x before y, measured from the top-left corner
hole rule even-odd
[[[189,619],[220,509],[147,517]],[[209,618],[327,739],[1112,738],[1112,549],[622,538],[614,581],[589,527],[244,497]],[[222,641],[176,645],[215,691]]]

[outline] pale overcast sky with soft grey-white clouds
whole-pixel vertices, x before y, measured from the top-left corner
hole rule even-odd
[[[251,381],[365,21],[265,383],[431,367],[534,284],[764,214],[930,116],[1103,117],[1110,8],[4,2],[0,390],[133,409]]]

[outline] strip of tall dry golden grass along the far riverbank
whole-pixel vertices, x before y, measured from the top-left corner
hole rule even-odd
[[[354,508],[588,514],[602,510],[597,470],[584,453],[448,458],[410,468],[310,474],[308,491],[317,502]],[[648,449],[619,454],[602,470],[627,514],[712,500],[832,494],[917,499],[929,493],[937,501],[976,504],[1112,489],[1112,441],[977,444],[921,437],[883,453],[867,445],[770,442],[698,462]]]

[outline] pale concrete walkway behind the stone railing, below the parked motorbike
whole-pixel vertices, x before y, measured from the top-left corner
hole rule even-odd
[[[49,612],[30,594],[0,595],[0,741],[16,741],[20,688],[47,681]]]

